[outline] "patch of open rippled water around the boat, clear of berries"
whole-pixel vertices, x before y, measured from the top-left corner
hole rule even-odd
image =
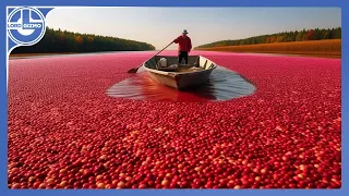
[[[139,73],[111,86],[107,94],[111,97],[155,100],[155,101],[217,101],[253,94],[255,87],[238,73],[218,66],[203,86],[179,91],[154,82],[140,69]]]

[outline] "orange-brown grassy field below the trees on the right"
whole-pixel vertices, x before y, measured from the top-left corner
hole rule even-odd
[[[224,46],[213,48],[198,48],[196,50],[253,53],[285,53],[310,57],[341,58],[341,39]]]

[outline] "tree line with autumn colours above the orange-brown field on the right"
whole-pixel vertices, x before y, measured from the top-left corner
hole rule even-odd
[[[196,48],[212,48],[221,46],[239,46],[239,45],[256,45],[270,42],[288,42],[288,41],[304,41],[304,40],[321,40],[321,39],[341,39],[341,28],[323,28],[323,29],[303,29],[296,32],[282,32],[272,35],[261,35],[249,37],[245,39],[220,40],[207,45],[202,45]]]

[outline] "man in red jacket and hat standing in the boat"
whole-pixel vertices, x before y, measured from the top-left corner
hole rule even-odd
[[[177,37],[173,42],[178,44],[178,63],[180,64],[184,59],[188,64],[188,53],[192,49],[192,40],[188,37],[186,29],[183,30],[182,35]]]

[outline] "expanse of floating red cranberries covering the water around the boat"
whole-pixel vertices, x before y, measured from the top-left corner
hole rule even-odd
[[[10,60],[8,186],[341,186],[339,59],[196,53],[255,91],[224,101],[106,94],[154,52]]]

